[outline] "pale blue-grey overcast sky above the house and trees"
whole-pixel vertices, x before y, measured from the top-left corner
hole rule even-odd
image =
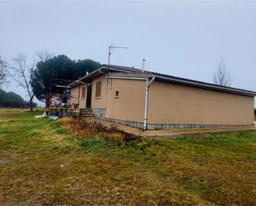
[[[49,50],[212,82],[222,55],[232,86],[256,90],[256,1],[0,0],[0,50]],[[11,84],[7,90],[22,94]]]

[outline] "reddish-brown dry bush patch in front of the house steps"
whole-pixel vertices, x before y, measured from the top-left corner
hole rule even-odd
[[[89,121],[73,117],[62,118],[59,122],[65,127],[68,133],[76,137],[103,137],[106,141],[114,142],[117,145],[122,145],[126,141],[137,138],[127,132],[119,130],[114,124],[111,124],[110,127],[106,127],[98,121]]]

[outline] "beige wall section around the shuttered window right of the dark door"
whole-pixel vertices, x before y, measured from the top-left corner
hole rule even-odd
[[[101,81],[101,95],[100,98],[95,98],[96,83]],[[106,108],[106,86],[107,79],[106,75],[101,75],[93,80],[92,88],[92,108]]]

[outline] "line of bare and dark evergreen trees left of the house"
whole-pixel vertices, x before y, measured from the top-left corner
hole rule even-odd
[[[35,97],[42,101],[46,94],[55,92],[53,79],[80,79],[99,67],[99,62],[94,60],[71,60],[66,55],[54,55],[46,50],[36,51],[31,63],[26,55],[17,55],[9,65],[0,55],[0,87],[8,84],[7,77],[11,77],[27,93],[32,110]]]

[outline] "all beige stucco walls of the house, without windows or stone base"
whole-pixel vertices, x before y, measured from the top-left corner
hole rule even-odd
[[[95,98],[99,80],[101,97]],[[92,108],[106,108],[107,118],[143,122],[145,87],[145,80],[106,79],[103,74],[93,80]],[[78,89],[72,88],[71,95],[78,96]],[[85,108],[85,99],[86,95],[80,99],[80,108]],[[254,98],[154,81],[149,88],[147,123],[249,125],[254,123]]]

